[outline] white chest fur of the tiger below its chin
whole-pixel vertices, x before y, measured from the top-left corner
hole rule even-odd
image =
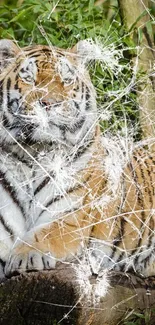
[[[76,175],[85,168],[91,156],[91,147],[75,160],[74,154],[69,155],[61,148],[51,151],[42,150],[33,160],[31,158],[26,160],[25,157],[21,158],[20,155],[8,154],[4,151],[1,153],[1,170],[12,186],[14,196],[23,207],[27,229],[51,222],[65,212],[78,209],[82,205],[83,198],[79,199],[73,195],[72,189],[79,185]],[[4,197],[7,196],[6,189],[3,192]],[[1,207],[5,201],[3,198]],[[17,210],[13,203],[10,195],[6,207],[10,213],[12,206]],[[9,218],[12,219],[12,216],[10,215]],[[21,216],[18,216],[18,219],[22,220]],[[23,232],[25,226],[23,221],[21,223],[22,227],[19,228],[22,228]]]

